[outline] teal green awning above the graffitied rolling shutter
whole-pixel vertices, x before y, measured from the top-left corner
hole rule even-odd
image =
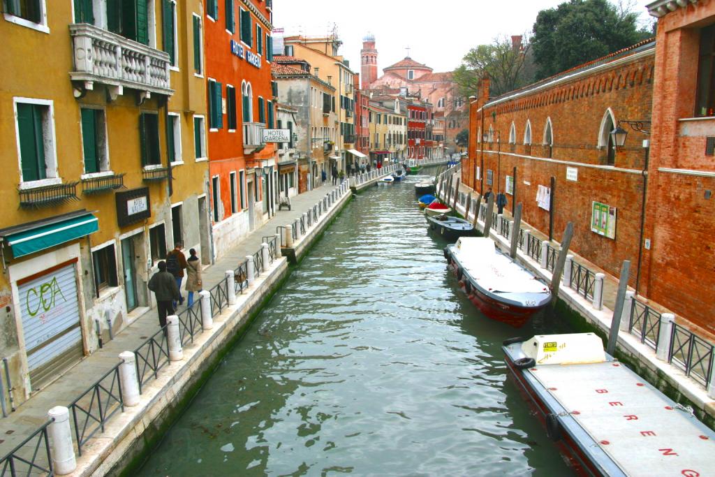
[[[97,217],[89,212],[72,213],[50,220],[33,222],[0,231],[15,258],[46,250],[92,232],[97,232]]]

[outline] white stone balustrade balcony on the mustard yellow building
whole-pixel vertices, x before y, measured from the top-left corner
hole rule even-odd
[[[69,26],[74,71],[69,77],[84,90],[109,87],[112,99],[124,88],[137,89],[142,99],[152,93],[171,95],[169,54],[91,24]]]

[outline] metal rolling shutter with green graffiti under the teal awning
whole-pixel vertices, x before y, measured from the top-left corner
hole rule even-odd
[[[18,285],[30,383],[40,387],[82,358],[74,262]]]

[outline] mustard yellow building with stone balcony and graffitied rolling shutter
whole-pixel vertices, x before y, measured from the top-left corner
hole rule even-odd
[[[21,403],[152,308],[147,280],[175,241],[210,257],[203,14],[200,0],[3,5],[0,355]]]

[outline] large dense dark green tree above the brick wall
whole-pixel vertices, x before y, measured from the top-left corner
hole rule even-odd
[[[631,1],[569,0],[542,10],[533,26],[534,79],[543,79],[649,38]]]

